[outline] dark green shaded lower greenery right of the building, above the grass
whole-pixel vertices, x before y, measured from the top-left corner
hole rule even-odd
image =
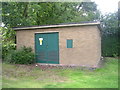
[[[117,57],[119,48],[117,35],[102,36],[102,56]]]

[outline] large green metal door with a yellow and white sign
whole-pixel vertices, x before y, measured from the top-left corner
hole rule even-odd
[[[58,33],[36,33],[35,54],[37,63],[59,64]]]

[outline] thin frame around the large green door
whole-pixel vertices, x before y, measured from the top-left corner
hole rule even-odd
[[[60,55],[59,55],[59,32],[58,31],[47,31],[47,32],[35,32],[34,33],[34,52],[35,52],[35,63],[37,63],[36,59],[36,42],[35,42],[35,35],[36,34],[49,34],[49,33],[58,33],[58,64],[60,64]],[[49,63],[47,63],[49,64]]]

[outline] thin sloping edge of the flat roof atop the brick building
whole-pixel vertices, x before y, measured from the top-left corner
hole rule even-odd
[[[59,28],[59,27],[77,27],[77,26],[93,26],[100,25],[100,22],[83,22],[74,24],[58,24],[58,25],[43,25],[43,26],[30,26],[30,27],[15,27],[14,30],[31,30],[31,29],[44,29],[44,28]]]

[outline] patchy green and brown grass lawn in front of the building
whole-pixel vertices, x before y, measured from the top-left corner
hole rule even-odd
[[[94,71],[80,69],[41,70],[33,65],[3,63],[3,88],[118,88],[118,60],[106,58]]]

